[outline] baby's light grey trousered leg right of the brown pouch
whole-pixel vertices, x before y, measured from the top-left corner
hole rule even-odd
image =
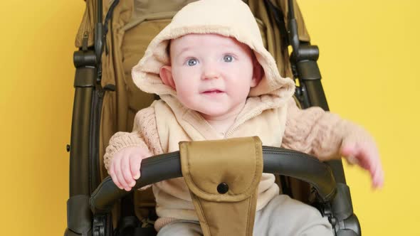
[[[310,205],[275,196],[265,208],[256,212],[253,235],[333,235],[327,218]]]

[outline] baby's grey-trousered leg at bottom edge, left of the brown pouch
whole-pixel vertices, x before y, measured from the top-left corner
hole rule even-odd
[[[170,222],[157,232],[157,236],[202,236],[200,223],[194,220],[177,220]]]

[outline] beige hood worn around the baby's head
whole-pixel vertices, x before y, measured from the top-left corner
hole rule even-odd
[[[259,97],[258,100],[272,104],[266,108],[281,107],[293,96],[293,80],[281,77],[278,73],[274,58],[263,46],[251,10],[241,0],[200,0],[181,9],[172,22],[152,40],[144,57],[132,68],[132,78],[140,90],[155,93],[165,101],[177,96],[175,90],[163,84],[159,70],[170,63],[167,54],[169,40],[189,33],[216,33],[236,38],[248,45],[264,70],[262,80],[251,88],[249,96]]]

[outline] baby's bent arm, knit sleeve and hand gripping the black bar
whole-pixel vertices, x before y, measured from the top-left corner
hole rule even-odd
[[[148,107],[137,112],[131,133],[117,132],[111,137],[104,156],[105,168],[118,188],[130,191],[140,178],[142,159],[157,154],[162,154],[162,147],[154,108]]]

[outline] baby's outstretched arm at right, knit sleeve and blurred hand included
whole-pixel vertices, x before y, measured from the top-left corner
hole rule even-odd
[[[375,188],[384,182],[379,152],[372,136],[357,124],[320,107],[302,110],[290,100],[282,146],[312,154],[321,161],[344,156],[349,163],[357,163],[369,171]]]

